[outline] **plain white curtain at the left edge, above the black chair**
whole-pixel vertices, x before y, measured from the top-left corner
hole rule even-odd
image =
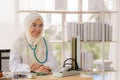
[[[15,0],[0,0],[0,49],[11,47],[15,22]]]

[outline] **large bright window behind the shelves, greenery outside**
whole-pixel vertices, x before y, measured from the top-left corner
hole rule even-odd
[[[58,2],[59,4],[57,4]],[[82,3],[80,3],[82,2]],[[112,0],[105,0],[105,9],[112,10]],[[61,6],[61,4],[64,4]],[[80,10],[88,10],[88,0],[19,0],[19,10],[70,10],[70,11],[80,11]],[[57,4],[57,5],[56,5]],[[85,5],[84,5],[85,4]],[[75,6],[71,6],[75,5]],[[19,21],[20,26],[23,26],[23,20],[28,13],[19,13]],[[45,20],[45,30],[44,36],[46,36],[52,44],[54,54],[61,63],[61,58],[65,59],[70,56],[71,53],[71,44],[66,43],[63,38],[63,23],[62,23],[62,14],[52,14],[52,13],[40,13]],[[105,14],[105,22],[110,23],[111,15]],[[101,21],[100,14],[66,14],[64,16],[66,22],[93,22],[93,21]],[[24,30],[24,27],[21,27],[20,32]],[[52,35],[52,36],[51,36]],[[81,43],[82,50],[88,51],[94,54],[94,59],[101,59],[101,43],[88,42]],[[104,59],[109,59],[109,49],[111,44],[109,42],[105,43],[105,57]],[[64,52],[64,53],[63,53]],[[68,56],[64,56],[66,54]],[[95,78],[100,76],[101,74],[94,75]],[[107,74],[105,74],[105,78],[107,79]],[[101,76],[100,76],[101,77]],[[102,77],[101,77],[102,78]],[[101,80],[100,78],[100,80]],[[98,80],[98,78],[96,79]]]

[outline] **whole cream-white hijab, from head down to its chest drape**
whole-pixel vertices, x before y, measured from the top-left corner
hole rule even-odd
[[[33,50],[28,46],[30,44],[32,47],[35,47],[37,45],[36,49],[36,55],[37,58],[40,61],[44,61],[45,56],[46,56],[46,47],[42,38],[42,34],[38,36],[38,38],[33,38],[32,35],[30,34],[30,25],[32,22],[36,19],[40,19],[41,22],[43,22],[43,18],[38,14],[37,12],[32,12],[30,13],[26,18],[25,18],[25,39],[26,39],[26,44],[27,46],[24,48],[24,51],[22,54],[22,59],[23,62],[31,65],[34,62],[37,62],[35,57],[34,57],[34,52]]]

